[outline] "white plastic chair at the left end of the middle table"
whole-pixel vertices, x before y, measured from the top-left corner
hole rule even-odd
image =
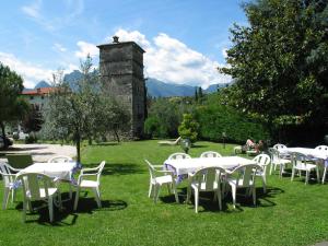
[[[151,195],[153,194],[154,203],[156,203],[160,196],[161,186],[167,185],[168,192],[171,192],[171,186],[172,186],[175,195],[175,200],[176,202],[179,202],[173,172],[164,171],[164,169],[155,169],[156,167],[163,168],[163,165],[152,165],[148,160],[144,161],[148,164],[149,174],[150,174],[148,197],[151,197]],[[157,174],[161,175],[157,176]]]

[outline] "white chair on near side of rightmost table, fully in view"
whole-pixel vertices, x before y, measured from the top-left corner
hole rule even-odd
[[[292,169],[292,177],[291,180],[294,179],[295,176],[295,171],[300,171],[300,176],[302,171],[305,171],[305,185],[308,184],[308,178],[309,178],[309,173],[313,169],[316,169],[317,173],[317,181],[319,183],[320,180],[320,175],[319,175],[319,168],[316,164],[309,163],[312,160],[307,157],[305,154],[294,152],[292,153],[292,164],[293,164],[293,169]]]

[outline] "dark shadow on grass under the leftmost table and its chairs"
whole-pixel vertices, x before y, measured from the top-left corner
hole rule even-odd
[[[70,226],[77,223],[79,214],[89,213],[92,214],[96,212],[110,212],[117,210],[124,210],[128,207],[126,201],[122,200],[102,200],[102,208],[97,207],[97,203],[94,197],[86,197],[87,191],[80,192],[79,203],[77,211],[73,210],[74,199],[62,202],[62,208],[54,206],[54,222],[50,223],[49,220],[49,210],[46,203],[40,201],[33,202],[33,208],[38,208],[42,204],[42,208],[34,210],[32,213],[26,213],[26,223],[38,223],[46,226]],[[62,199],[66,200],[69,197],[69,194],[62,194]],[[73,196],[74,198],[75,196]],[[23,203],[20,202],[16,206],[17,210],[23,210]],[[23,211],[22,211],[23,213]],[[36,218],[37,216],[37,218]]]

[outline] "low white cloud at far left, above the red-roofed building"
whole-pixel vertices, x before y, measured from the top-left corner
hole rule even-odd
[[[0,60],[3,65],[10,67],[24,79],[25,87],[34,87],[34,85],[42,80],[50,80],[54,73],[50,69],[33,66],[16,58],[12,54],[1,52]]]

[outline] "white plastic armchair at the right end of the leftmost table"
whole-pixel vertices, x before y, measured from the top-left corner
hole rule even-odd
[[[106,162],[103,161],[97,167],[94,168],[82,168],[77,186],[77,195],[74,201],[74,210],[78,208],[80,190],[83,188],[91,188],[95,194],[95,199],[97,202],[98,208],[102,208],[101,202],[101,175],[104,169]],[[93,179],[85,179],[85,177],[93,177]]]

